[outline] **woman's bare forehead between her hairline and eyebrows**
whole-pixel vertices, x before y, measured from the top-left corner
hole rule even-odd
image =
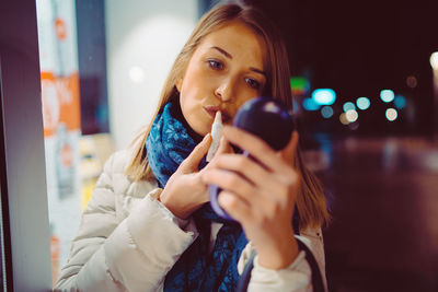
[[[265,43],[243,23],[230,22],[209,33],[200,43],[198,50],[204,52],[215,46],[224,49],[233,59],[249,61],[251,62],[249,66],[263,69]]]

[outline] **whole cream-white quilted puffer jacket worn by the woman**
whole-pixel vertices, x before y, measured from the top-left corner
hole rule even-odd
[[[128,151],[120,151],[106,162],[55,291],[162,291],[166,272],[195,241],[193,220],[175,218],[157,200],[157,182],[131,182],[124,175],[129,159]],[[212,238],[219,229],[211,227]],[[313,252],[325,281],[321,232],[308,231],[300,238]],[[250,243],[239,272],[251,253]],[[312,291],[304,256],[301,252],[281,270],[261,267],[256,257],[249,291]]]

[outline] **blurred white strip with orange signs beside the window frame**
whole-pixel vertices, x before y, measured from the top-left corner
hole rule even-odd
[[[74,1],[38,0],[43,121],[53,279],[79,225],[80,96]]]

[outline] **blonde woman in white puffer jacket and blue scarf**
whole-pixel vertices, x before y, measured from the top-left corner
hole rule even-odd
[[[274,152],[226,127],[218,153],[208,164],[204,159],[216,112],[229,125],[244,102],[260,95],[292,104],[278,32],[254,8],[215,8],[177,56],[136,149],[105,164],[56,288],[234,291],[255,250],[250,291],[311,291],[292,217],[324,270],[320,229],[328,214],[297,151],[298,135]],[[234,154],[230,143],[258,163]],[[239,223],[211,211],[208,184],[223,189],[219,203]]]

